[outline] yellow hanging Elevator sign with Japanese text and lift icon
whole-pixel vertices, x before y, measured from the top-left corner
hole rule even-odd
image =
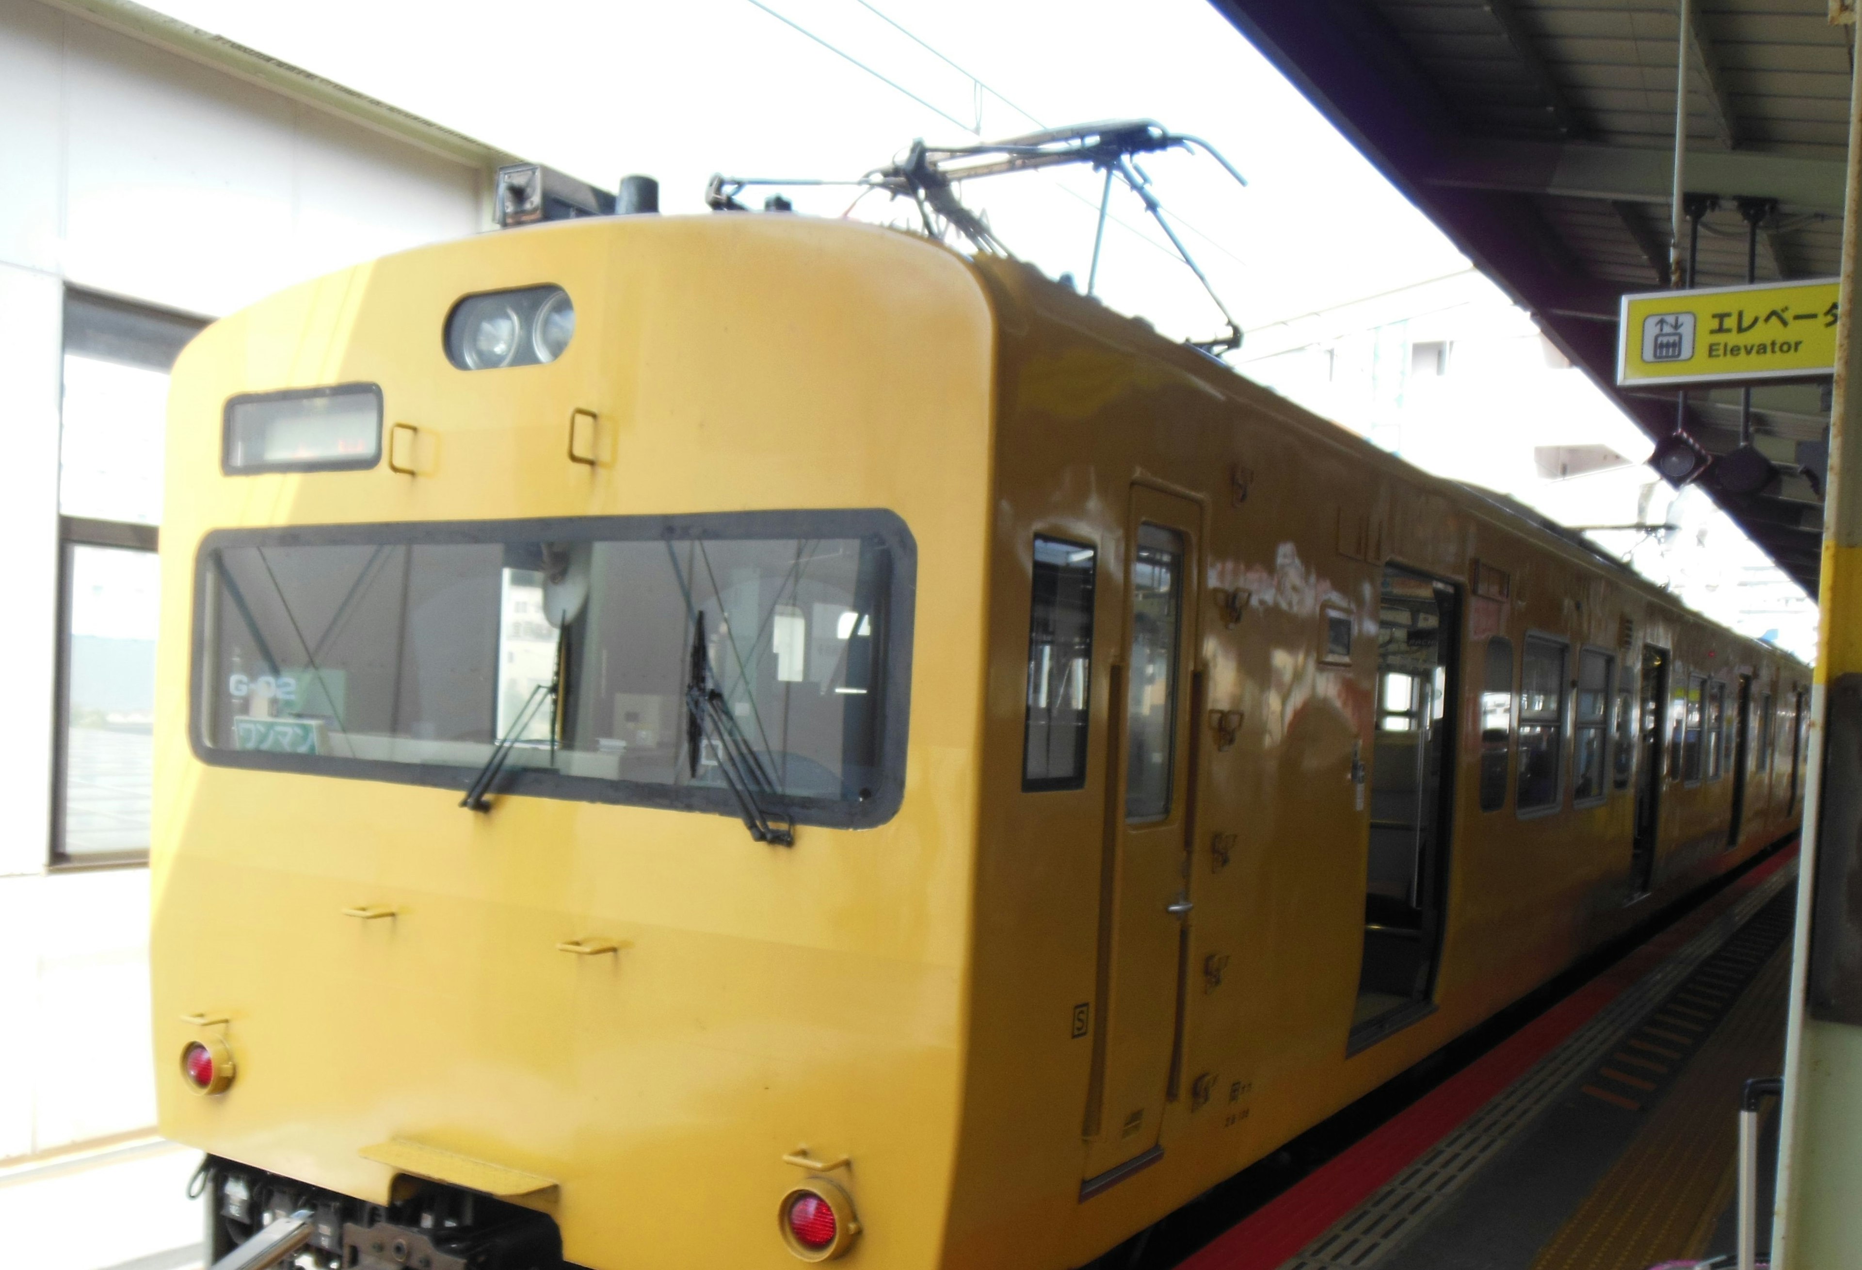
[[[1754,384],[1836,369],[1836,279],[1624,296],[1616,384]]]

